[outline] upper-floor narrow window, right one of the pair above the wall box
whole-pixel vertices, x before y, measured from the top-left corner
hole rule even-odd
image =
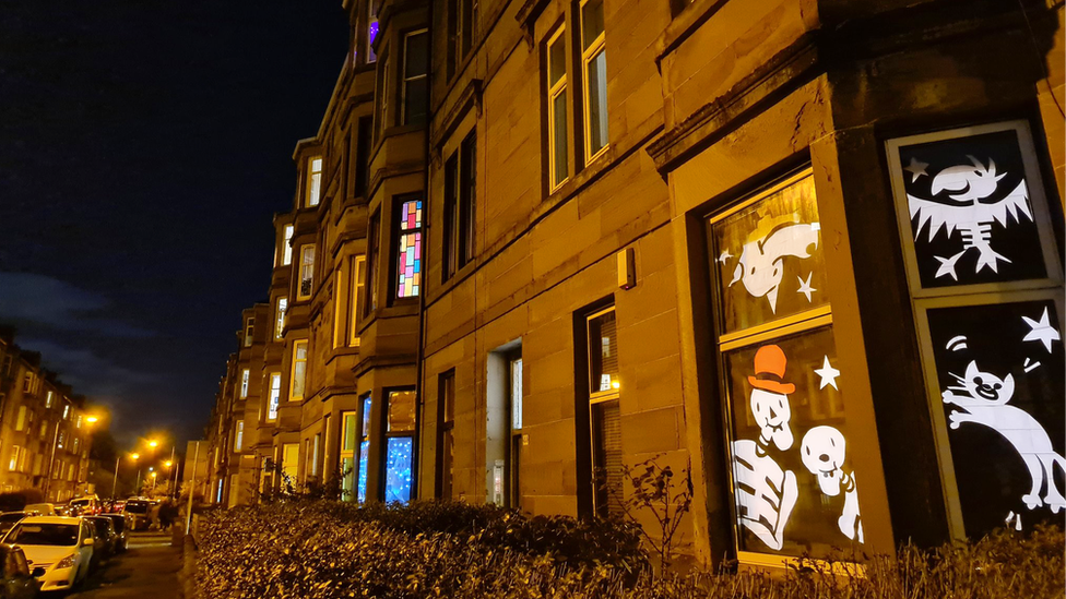
[[[603,0],[581,4],[581,65],[584,98],[585,160],[607,147],[607,57]]]

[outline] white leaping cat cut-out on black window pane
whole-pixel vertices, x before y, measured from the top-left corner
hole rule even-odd
[[[999,379],[995,374],[982,372],[976,361],[967,367],[966,375],[955,376],[959,384],[948,386],[941,395],[944,403],[959,408],[948,415],[952,429],[963,422],[984,424],[1006,439],[1021,456],[1032,478],[1032,489],[1021,496],[1026,507],[1035,510],[1041,505],[1051,508],[1052,514],[1066,507],[1066,499],[1055,484],[1055,465],[1066,471],[1066,459],[1055,453],[1051,438],[1040,422],[1028,412],[1008,406],[1015,393],[1015,379],[1007,374]],[[1040,491],[1046,484],[1043,499]]]

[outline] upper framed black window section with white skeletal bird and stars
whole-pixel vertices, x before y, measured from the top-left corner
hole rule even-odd
[[[1049,276],[1051,230],[1023,123],[893,140],[889,160],[923,288]]]

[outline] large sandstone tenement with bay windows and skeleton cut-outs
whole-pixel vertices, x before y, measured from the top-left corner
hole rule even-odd
[[[1063,523],[1066,34],[1023,4],[345,2],[216,501],[619,515],[654,459],[703,562]]]

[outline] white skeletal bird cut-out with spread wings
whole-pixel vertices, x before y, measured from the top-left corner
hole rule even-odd
[[[982,200],[995,193],[999,180],[1007,173],[996,175],[996,163],[992,159],[985,167],[973,156],[967,157],[970,158],[972,166],[959,165],[941,170],[933,178],[929,188],[934,195],[945,190],[958,192],[948,194],[954,203],[907,195],[911,218],[915,216],[919,218],[917,230],[914,233],[915,241],[921,237],[926,224],[928,224],[926,237],[928,241],[933,241],[940,227],[946,227],[949,236],[955,232],[955,229],[959,229],[962,233],[961,252],[949,257],[934,256],[940,262],[936,271],[937,278],[950,276],[958,280],[956,263],[970,250],[978,250],[975,273],[985,267],[991,268],[993,273],[998,273],[999,261],[1009,263],[1010,260],[992,249],[992,223],[997,221],[1006,227],[1007,215],[1010,215],[1016,223],[1021,221],[1021,215],[1029,220],[1033,219],[1029,206],[1029,190],[1026,188],[1024,180],[1003,200],[991,204],[982,203]]]

